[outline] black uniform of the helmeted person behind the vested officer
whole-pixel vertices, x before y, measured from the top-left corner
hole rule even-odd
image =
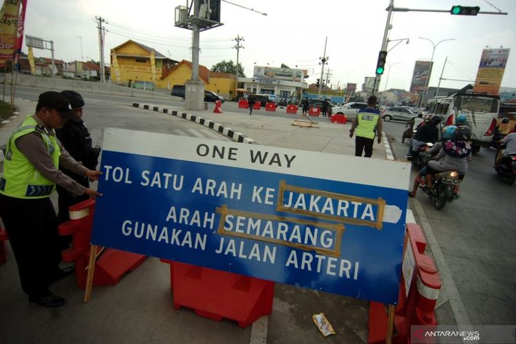
[[[73,122],[69,120],[63,126],[63,128],[56,130],[56,135],[57,138],[63,144],[63,147],[65,147],[68,153],[72,155],[72,158],[79,162],[82,162],[87,169],[96,169],[96,166],[98,164],[98,154],[100,153],[100,148],[92,147],[92,137],[89,135],[89,131],[82,120],[80,120],[79,122]],[[88,178],[73,173],[72,171],[64,169],[61,166],[59,166],[59,169],[61,169],[63,173],[69,175],[70,178],[72,178],[79,184],[89,188]],[[78,197],[74,197],[70,195],[61,186],[56,186],[56,190],[59,194],[59,213],[57,217],[59,223],[61,224],[69,220],[69,206],[87,200],[88,196],[80,195]]]

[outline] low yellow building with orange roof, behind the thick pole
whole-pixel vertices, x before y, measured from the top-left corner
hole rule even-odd
[[[192,63],[183,60],[156,82],[156,87],[166,88],[173,85],[184,85],[192,76]],[[204,83],[204,89],[213,91],[226,99],[230,98],[235,90],[235,75],[228,73],[211,72],[210,69],[199,65],[199,80]],[[230,93],[231,91],[231,93]]]

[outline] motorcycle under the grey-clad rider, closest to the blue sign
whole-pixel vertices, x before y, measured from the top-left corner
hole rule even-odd
[[[421,186],[424,193],[429,195],[430,200],[438,211],[444,208],[446,202],[451,202],[456,199],[454,190],[456,186],[460,185],[460,173],[458,171],[446,171],[436,173],[433,176],[432,186]]]

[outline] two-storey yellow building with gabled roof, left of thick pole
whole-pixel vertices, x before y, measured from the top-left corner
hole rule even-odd
[[[129,40],[111,49],[111,83],[132,87],[144,81],[161,87],[158,80],[177,63],[147,45]]]

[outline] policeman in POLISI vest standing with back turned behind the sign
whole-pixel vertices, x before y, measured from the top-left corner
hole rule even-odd
[[[367,99],[367,107],[356,114],[350,129],[350,138],[353,137],[356,129],[355,156],[371,158],[373,155],[374,136],[378,135],[378,144],[382,142],[382,118],[380,110],[376,109],[376,96]]]

